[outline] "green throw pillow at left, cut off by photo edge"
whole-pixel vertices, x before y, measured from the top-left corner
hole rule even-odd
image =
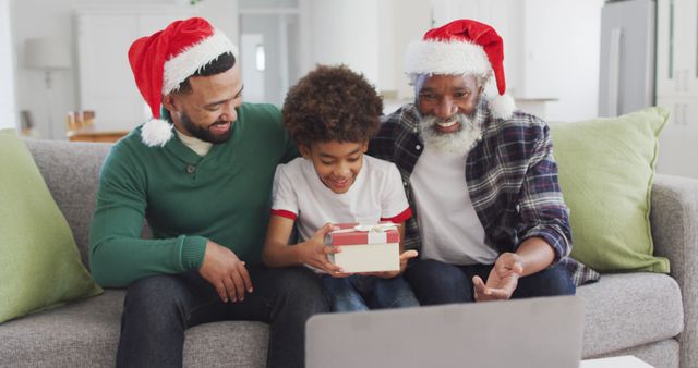
[[[0,130],[0,323],[103,291],[14,130]]]

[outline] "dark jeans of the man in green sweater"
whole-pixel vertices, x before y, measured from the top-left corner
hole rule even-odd
[[[329,311],[324,286],[304,267],[249,271],[254,292],[240,303],[222,303],[196,271],[132,283],[121,316],[117,366],[181,367],[188,328],[250,320],[269,323],[269,367],[303,367],[305,321]]]

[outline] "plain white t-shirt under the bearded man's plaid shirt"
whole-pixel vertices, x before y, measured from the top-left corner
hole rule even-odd
[[[484,244],[466,183],[466,157],[440,155],[429,147],[419,157],[410,184],[422,237],[422,258],[452,265],[492,265],[497,252]]]

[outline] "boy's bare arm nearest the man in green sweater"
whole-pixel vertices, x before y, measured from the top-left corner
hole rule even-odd
[[[325,235],[333,229],[332,223],[326,223],[310,240],[288,246],[293,220],[272,214],[262,250],[262,260],[267,267],[274,268],[309,265],[329,274],[340,272],[341,269],[327,259],[327,255],[338,253],[339,248],[325,246],[324,243]]]

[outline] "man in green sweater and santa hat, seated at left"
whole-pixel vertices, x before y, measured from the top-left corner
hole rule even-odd
[[[236,57],[203,19],[129,50],[154,119],[107,157],[91,231],[95,279],[128,287],[119,367],[179,367],[184,331],[218,320],[268,322],[268,365],[302,367],[305,321],[328,310],[311,271],[261,265],[274,172],[298,152],[277,108],[242,103]]]

